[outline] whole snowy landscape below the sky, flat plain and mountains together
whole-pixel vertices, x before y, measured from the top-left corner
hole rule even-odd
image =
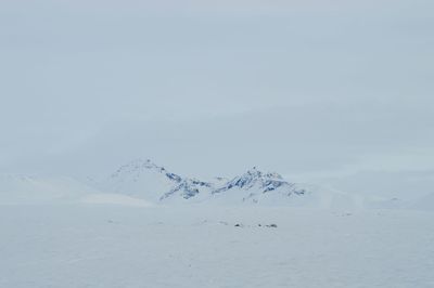
[[[95,188],[0,175],[0,288],[434,287],[434,197],[204,182],[151,161]]]

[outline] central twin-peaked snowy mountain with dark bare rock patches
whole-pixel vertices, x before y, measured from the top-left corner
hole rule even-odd
[[[169,172],[151,160],[133,160],[122,166],[100,186],[153,202],[280,202],[308,194],[278,173],[253,168],[232,180],[215,178],[201,181]]]

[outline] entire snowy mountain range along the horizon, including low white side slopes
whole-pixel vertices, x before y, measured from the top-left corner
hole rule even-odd
[[[419,202],[408,199],[368,197],[333,187],[285,181],[278,173],[252,168],[233,179],[208,181],[182,176],[153,163],[135,160],[103,181],[67,176],[0,174],[0,205],[15,204],[111,204],[150,206],[259,205],[320,209],[417,209],[432,210],[432,195]]]

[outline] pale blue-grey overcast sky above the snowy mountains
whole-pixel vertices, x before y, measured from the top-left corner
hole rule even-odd
[[[433,51],[432,0],[2,0],[0,172],[434,192]]]

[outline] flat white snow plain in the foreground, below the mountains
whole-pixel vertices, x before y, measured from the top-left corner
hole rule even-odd
[[[433,217],[100,200],[0,205],[0,287],[434,287]]]

